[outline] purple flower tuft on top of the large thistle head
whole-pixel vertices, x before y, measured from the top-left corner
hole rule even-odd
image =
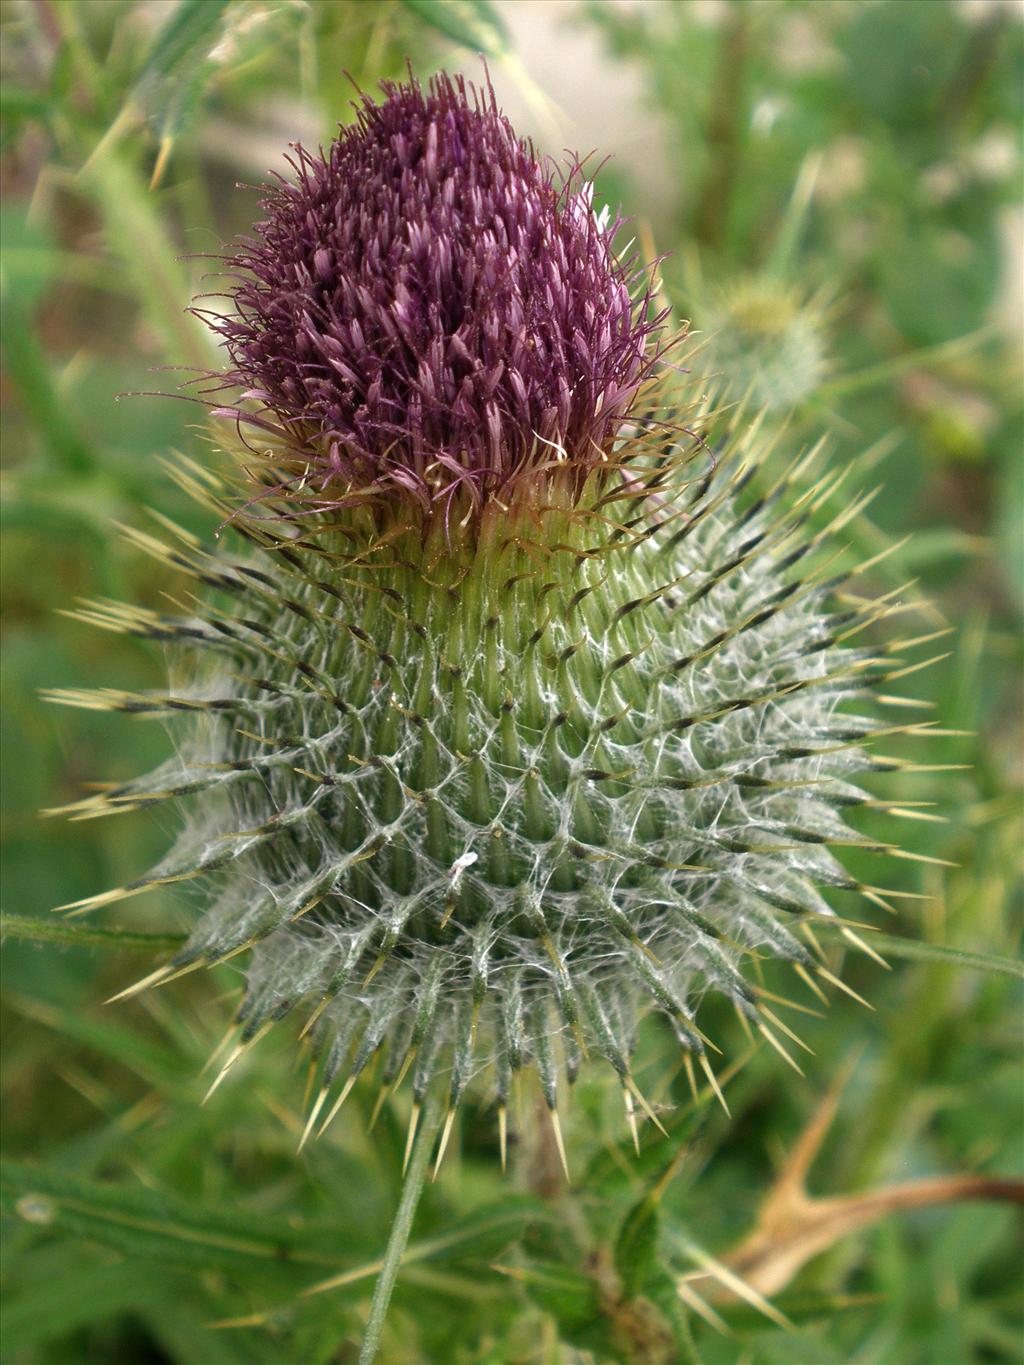
[[[490,86],[384,85],[228,261],[212,317],[270,429],[324,500],[459,490],[606,461],[657,355],[650,285],[613,253],[578,161],[541,161]],[[635,298],[636,295],[636,298]]]

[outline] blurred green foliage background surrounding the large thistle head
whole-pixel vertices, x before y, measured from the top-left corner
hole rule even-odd
[[[781,299],[762,333],[740,339],[755,369],[771,382],[771,321],[786,310],[827,362],[797,393],[784,441],[796,450],[829,430],[836,461],[875,452],[857,478],[883,491],[847,538],[872,556],[911,532],[872,587],[913,580],[896,628],[952,633],[937,644],[949,657],[907,687],[934,704],[912,719],[938,718],[937,733],[892,741],[934,771],[879,788],[934,801],[943,823],[878,812],[871,830],[953,865],[857,865],[924,898],[896,900],[882,925],[892,972],[833,950],[874,1013],[833,992],[823,1017],[786,1014],[814,1050],[804,1080],[730,1017],[709,1018],[732,1119],[706,1091],[691,1099],[653,1026],[640,1077],[669,1136],[644,1127],[635,1158],[618,1095],[584,1078],[565,1118],[565,1189],[530,1096],[513,1171],[500,1174],[481,1092],[421,1207],[382,1358],[1016,1361],[1023,1249],[1005,1205],[924,1209],[842,1238],[777,1295],[792,1330],[720,1298],[722,1335],[689,1314],[677,1280],[748,1230],[840,1074],[815,1193],[1021,1164],[1021,11],[999,0],[547,8],[639,76],[653,127],[668,128],[669,210],[649,228],[628,164],[601,171],[598,195],[669,253],[679,317],[721,341],[737,315],[724,299]],[[162,677],[153,650],[56,612],[93,595],[156,606],[184,590],[115,523],[142,526],[154,506],[198,524],[160,465],[172,449],[202,456],[198,410],[115,394],[172,388],[176,375],[154,367],[216,363],[183,311],[209,269],[194,254],[251,221],[253,195],[233,186],[298,134],[283,111],[326,139],[348,116],[343,70],[371,89],[407,56],[421,75],[478,75],[475,52],[498,71],[519,71],[519,55],[485,0],[5,0],[1,35],[4,901],[15,917],[4,1358],[354,1360],[407,1112],[389,1102],[367,1134],[373,1095],[356,1091],[345,1119],[296,1158],[304,1074],[287,1037],[201,1107],[238,973],[101,1003],[167,946],[141,935],[188,924],[187,897],[131,901],[72,945],[31,940],[60,936],[52,906],[122,885],[168,834],[138,815],[40,819],[86,781],[154,764],[169,741],[123,717],[44,708],[37,691]],[[874,906],[847,913],[883,919]],[[815,1003],[792,977],[770,984]],[[303,1293],[335,1276],[335,1289]]]

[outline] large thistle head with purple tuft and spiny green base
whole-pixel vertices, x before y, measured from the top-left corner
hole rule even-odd
[[[210,609],[91,613],[197,681],[102,695],[190,725],[79,814],[182,799],[187,824],[76,908],[209,887],[147,981],[247,950],[231,1055],[298,1014],[307,1132],[378,1054],[449,1114],[483,1073],[502,1134],[516,1073],[554,1111],[587,1058],[632,1112],[642,1011],[706,1065],[709,992],[769,1032],[745,954],[815,966],[796,927],[852,885],[867,609],[830,610],[788,475],[745,490],[755,426],[711,453],[659,407],[649,274],[489,89],[385,86],[292,168],[210,319],[254,482],[182,475],[235,549],[138,538]]]

